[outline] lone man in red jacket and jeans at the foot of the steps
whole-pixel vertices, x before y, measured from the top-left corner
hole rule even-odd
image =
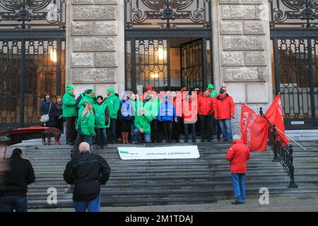
[[[251,157],[249,148],[243,143],[239,135],[233,137],[233,145],[226,154],[230,161],[235,201],[232,204],[242,204],[245,201],[245,174],[247,161]]]

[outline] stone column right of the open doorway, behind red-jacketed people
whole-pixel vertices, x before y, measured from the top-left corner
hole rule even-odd
[[[233,131],[240,131],[240,102],[255,111],[271,102],[271,40],[267,0],[213,2],[216,88],[225,83],[235,100]]]

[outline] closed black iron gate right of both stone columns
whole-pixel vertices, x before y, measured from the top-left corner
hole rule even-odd
[[[318,1],[270,1],[273,89],[286,129],[318,129]]]

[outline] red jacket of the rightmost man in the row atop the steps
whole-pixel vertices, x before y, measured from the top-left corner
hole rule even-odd
[[[220,94],[214,97],[214,117],[218,120],[231,119],[231,115],[235,114],[235,105],[233,98],[226,93],[226,96],[221,99]]]

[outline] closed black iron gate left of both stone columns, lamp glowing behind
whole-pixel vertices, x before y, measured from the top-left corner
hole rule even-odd
[[[20,3],[19,3],[20,2]],[[0,1],[0,127],[37,125],[65,87],[64,0]]]

